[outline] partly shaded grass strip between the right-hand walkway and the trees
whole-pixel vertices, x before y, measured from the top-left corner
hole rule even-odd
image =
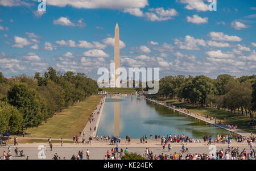
[[[196,105],[185,104],[184,102],[179,102],[177,100],[170,100],[170,99],[152,97],[152,96],[151,98],[156,98],[159,101],[167,102],[167,104],[185,107],[185,109],[188,109],[194,114],[202,114],[202,115],[209,115],[212,117],[216,117],[217,120],[221,120],[222,123],[236,124],[237,128],[241,130],[245,130],[247,132],[253,132],[254,134],[256,133],[255,128],[247,124],[253,118],[250,118],[250,116],[246,116],[245,114],[244,115],[241,115],[238,113],[234,114],[232,112],[225,111],[225,110],[218,110],[210,107],[201,107]]]

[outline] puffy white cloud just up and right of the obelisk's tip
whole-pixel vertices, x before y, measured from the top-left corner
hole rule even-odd
[[[164,10],[163,7],[157,9],[149,9],[151,12],[146,12],[146,16],[152,22],[155,21],[165,21],[173,19],[172,16],[178,15],[178,12],[175,9]]]

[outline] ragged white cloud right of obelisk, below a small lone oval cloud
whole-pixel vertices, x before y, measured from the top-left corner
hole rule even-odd
[[[189,35],[185,36],[184,42],[182,42],[179,39],[175,39],[174,41],[174,43],[179,47],[179,49],[186,50],[200,50],[200,48],[197,47],[197,45],[201,45],[203,47],[207,45],[203,39],[195,39],[194,37]]]

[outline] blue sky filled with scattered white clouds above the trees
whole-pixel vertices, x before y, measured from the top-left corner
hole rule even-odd
[[[33,76],[48,66],[84,72],[114,59],[114,27],[121,66],[159,67],[168,75],[243,76],[256,71],[256,1],[0,0],[0,72]]]

